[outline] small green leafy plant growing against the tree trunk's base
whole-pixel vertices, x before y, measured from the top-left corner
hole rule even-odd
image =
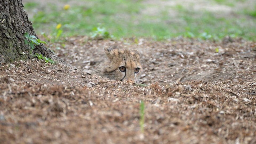
[[[28,32],[26,32],[24,34],[24,37],[27,38],[25,39],[25,44],[29,44],[29,46],[31,47],[30,49],[30,55],[32,55],[32,51],[35,49],[35,45],[39,45],[40,43],[45,43],[47,44],[45,41],[41,41],[40,39],[37,39],[34,35],[29,35]],[[47,57],[43,57],[42,54],[38,54],[38,53],[35,53],[35,55],[33,55],[34,57],[37,57],[38,59],[44,59],[46,63],[51,63],[51,64],[54,64],[55,62],[50,59],[50,58],[47,58]]]

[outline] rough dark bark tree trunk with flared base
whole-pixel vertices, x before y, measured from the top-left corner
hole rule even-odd
[[[32,58],[29,54],[30,46],[24,43],[23,35],[26,32],[37,37],[23,10],[22,0],[0,0],[0,63]],[[43,44],[36,46],[34,52],[57,58]]]

